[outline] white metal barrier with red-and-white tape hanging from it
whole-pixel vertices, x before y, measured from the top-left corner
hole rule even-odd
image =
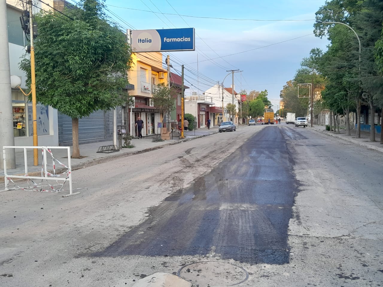
[[[25,174],[24,175],[10,175],[7,172],[7,161],[6,161],[6,152],[5,150],[7,148],[22,148],[24,150],[24,166],[25,166]],[[43,157],[43,163],[41,165],[41,176],[29,176],[28,175],[28,159],[27,159],[27,154],[26,150],[27,149],[33,149],[33,148],[38,148],[41,149],[41,154]],[[61,163],[61,161],[57,160],[54,158],[51,149],[66,149],[68,153],[68,166],[64,165]],[[52,157],[52,173],[47,170],[47,153]],[[62,173],[56,174],[56,162],[61,165],[62,167],[66,168],[66,170]],[[62,197],[67,197],[75,194],[79,194],[80,192],[74,192],[72,189],[72,169],[71,169],[71,164],[70,164],[70,147],[34,147],[34,146],[29,146],[29,147],[15,147],[15,146],[4,146],[3,147],[3,164],[4,164],[4,182],[5,182],[5,189],[4,191],[7,190],[15,190],[15,189],[22,189],[25,191],[40,191],[40,192],[60,192],[65,184],[65,182],[69,182],[69,194],[63,195]],[[64,175],[64,176],[63,176]],[[61,177],[63,176],[63,177]],[[26,188],[22,188],[18,186],[11,178],[24,178],[27,179],[28,186]],[[35,183],[33,179],[41,179],[40,183]],[[51,188],[51,190],[44,189],[43,181],[47,181],[47,187]],[[54,185],[50,184],[48,180],[56,180],[57,185],[61,186],[59,189],[55,189]],[[59,183],[59,181],[63,181],[63,183]],[[17,188],[9,188],[9,183],[12,182],[15,184]],[[32,185],[31,185],[32,183]],[[34,189],[34,188],[40,188],[41,189]],[[66,189],[67,190],[67,189]]]

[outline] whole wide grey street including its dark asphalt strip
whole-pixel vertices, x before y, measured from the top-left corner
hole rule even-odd
[[[382,153],[292,125],[85,166],[78,196],[0,193],[0,285],[381,286],[382,174]]]

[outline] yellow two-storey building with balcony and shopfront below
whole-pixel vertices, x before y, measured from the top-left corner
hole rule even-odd
[[[142,135],[157,134],[160,132],[158,123],[162,122],[162,115],[153,105],[152,91],[159,83],[167,85],[167,70],[162,63],[162,53],[133,53],[132,60],[128,79],[134,85],[134,90],[129,91],[129,95],[134,97],[134,108],[129,108],[129,131],[137,136],[134,123],[141,117],[144,121]]]

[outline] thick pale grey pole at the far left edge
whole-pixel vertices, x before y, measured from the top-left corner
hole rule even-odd
[[[11,73],[9,64],[8,29],[7,29],[7,4],[0,1],[0,147],[15,145],[13,136]],[[0,152],[3,159],[3,153]],[[15,168],[15,149],[5,150],[7,158],[6,167]],[[3,168],[3,165],[0,164]]]

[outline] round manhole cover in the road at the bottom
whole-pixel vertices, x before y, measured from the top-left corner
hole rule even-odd
[[[249,278],[249,273],[234,264],[201,261],[183,266],[178,276],[200,287],[216,287],[240,284]]]

